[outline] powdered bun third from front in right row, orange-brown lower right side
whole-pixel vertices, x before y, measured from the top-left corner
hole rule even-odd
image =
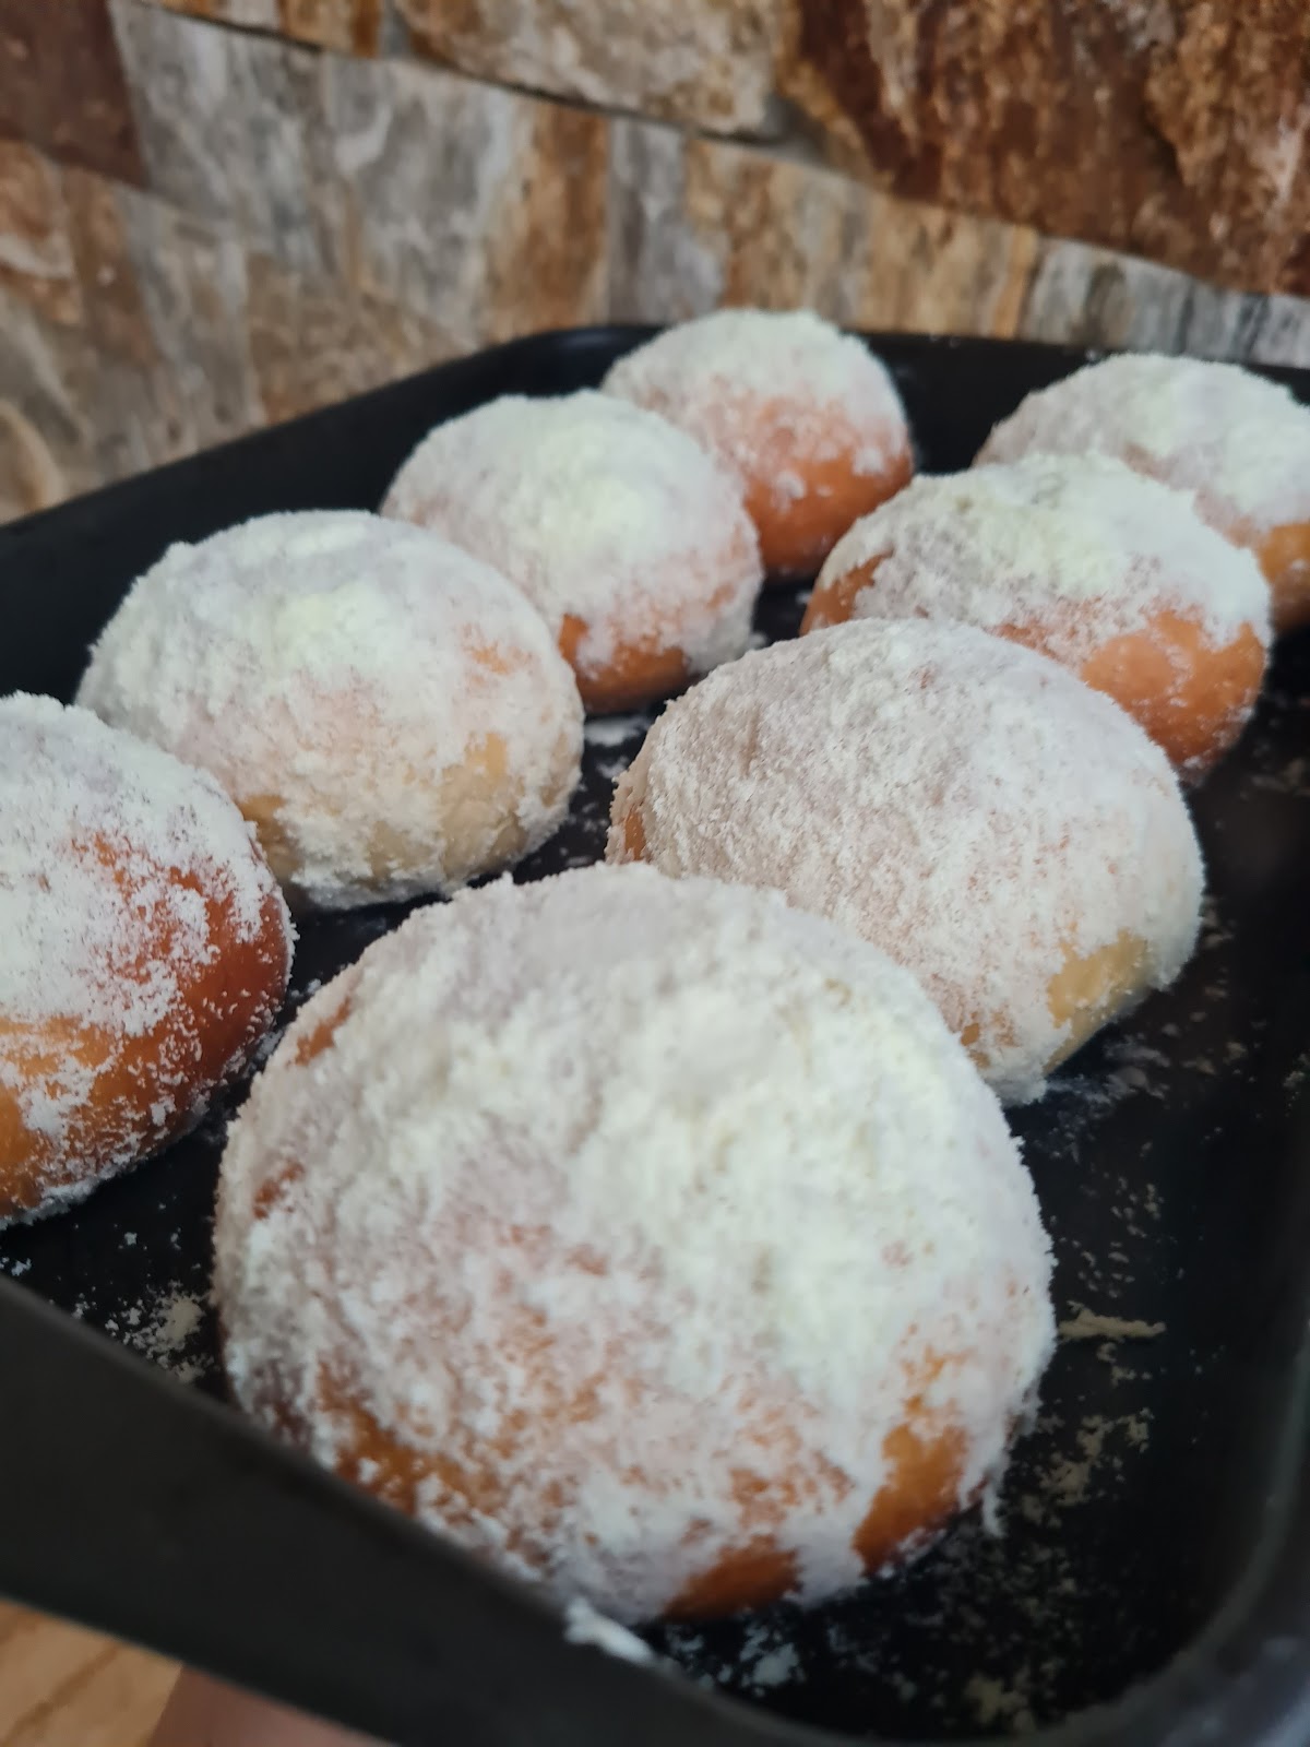
[[[1254,557],[1207,528],[1191,494],[1099,454],[917,479],[838,543],[802,631],[912,615],[1072,667],[1189,779],[1242,732],[1270,643]]]

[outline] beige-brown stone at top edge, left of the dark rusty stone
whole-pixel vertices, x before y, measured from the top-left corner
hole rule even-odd
[[[398,0],[475,79],[716,133],[774,133],[781,0]]]

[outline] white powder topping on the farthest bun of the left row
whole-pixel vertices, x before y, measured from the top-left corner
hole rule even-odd
[[[783,503],[807,486],[777,466],[779,428],[786,452],[851,456],[856,473],[880,473],[908,449],[882,360],[810,309],[718,309],[683,321],[620,358],[604,391],[681,425],[744,480],[767,466]]]

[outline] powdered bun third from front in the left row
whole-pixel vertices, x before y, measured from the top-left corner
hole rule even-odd
[[[587,709],[665,697],[749,641],[762,575],[741,491],[665,419],[606,395],[507,395],[438,425],[383,514],[522,589]]]

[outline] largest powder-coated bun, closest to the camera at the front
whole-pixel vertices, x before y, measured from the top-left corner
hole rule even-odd
[[[817,1600],[990,1487],[1048,1277],[914,978],[646,868],[410,917],[297,1017],[222,1164],[241,1405],[622,1621]]]

